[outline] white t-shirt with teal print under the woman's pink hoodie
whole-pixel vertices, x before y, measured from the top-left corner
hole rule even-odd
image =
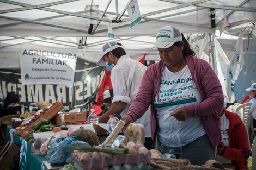
[[[200,117],[187,117],[185,121],[177,121],[170,112],[201,102],[202,97],[194,84],[188,66],[179,72],[171,72],[164,68],[159,91],[154,99],[153,107],[157,110],[157,137],[161,143],[170,147],[184,146],[205,134]],[[181,141],[181,144],[180,144]]]

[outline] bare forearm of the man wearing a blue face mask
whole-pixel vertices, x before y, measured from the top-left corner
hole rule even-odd
[[[107,123],[109,115],[118,114],[126,108],[127,103],[125,102],[114,102],[113,105],[107,110],[105,114],[99,117],[99,123]]]

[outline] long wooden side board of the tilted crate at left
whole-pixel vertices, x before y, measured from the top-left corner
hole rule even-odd
[[[32,124],[30,124],[27,128],[25,128],[23,131],[28,131],[31,132],[32,126],[37,123],[38,121],[40,121],[41,118],[46,118],[47,121],[50,121],[51,118],[53,118],[54,116],[56,116],[58,114],[58,112],[60,110],[62,110],[64,108],[64,106],[62,105],[62,103],[60,102],[54,102],[51,104],[50,108],[45,112],[44,115],[40,116],[38,119],[36,119],[35,122],[33,122]]]

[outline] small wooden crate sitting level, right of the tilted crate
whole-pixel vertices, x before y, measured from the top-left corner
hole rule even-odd
[[[75,124],[75,123],[81,123],[86,121],[87,114],[84,111],[81,112],[72,112],[72,113],[63,113],[65,115],[65,124]],[[56,115],[52,122],[56,124],[61,124],[61,116],[62,114]]]

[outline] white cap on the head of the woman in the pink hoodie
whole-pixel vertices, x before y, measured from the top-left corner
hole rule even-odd
[[[182,41],[180,31],[173,26],[164,26],[158,31],[156,43],[152,48],[169,48],[178,41]]]

